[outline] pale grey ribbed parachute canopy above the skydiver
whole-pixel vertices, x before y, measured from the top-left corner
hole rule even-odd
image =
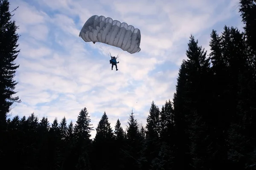
[[[85,42],[101,42],[130,54],[140,52],[140,29],[110,17],[91,16],[81,28],[79,37]]]

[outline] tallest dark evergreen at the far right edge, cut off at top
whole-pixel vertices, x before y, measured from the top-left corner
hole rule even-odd
[[[237,105],[228,130],[228,159],[233,168],[250,170],[255,169],[256,165],[256,119],[253,116],[256,114],[256,45],[253,39],[256,37],[253,31],[256,26],[253,14],[256,12],[255,0],[240,0],[240,12],[245,35],[235,28],[229,28],[232,40],[230,46],[233,47],[233,69],[230,74],[237,85],[233,88],[236,90],[233,96],[236,96]]]

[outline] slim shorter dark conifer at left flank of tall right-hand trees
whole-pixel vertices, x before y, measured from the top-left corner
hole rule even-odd
[[[191,157],[189,155],[189,136],[186,133],[188,123],[186,114],[189,113],[189,108],[186,107],[186,92],[189,89],[186,87],[188,80],[188,71],[186,62],[183,60],[179,75],[177,77],[176,92],[174,94],[174,121],[175,121],[175,164],[174,169],[190,169]]]

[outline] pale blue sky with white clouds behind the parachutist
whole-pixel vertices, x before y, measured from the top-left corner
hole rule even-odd
[[[35,113],[50,125],[65,116],[75,123],[87,108],[93,127],[104,112],[114,130],[126,127],[131,110],[145,127],[151,102],[162,108],[175,93],[178,71],[192,34],[209,54],[212,29],[242,30],[239,0],[9,0],[19,26],[15,91],[22,100],[9,117]],[[141,31],[141,51],[84,42],[79,32],[92,15],[126,22]],[[119,55],[118,71],[111,70]],[[96,130],[91,132],[92,138]]]

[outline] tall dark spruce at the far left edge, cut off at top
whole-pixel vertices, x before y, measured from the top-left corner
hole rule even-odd
[[[12,21],[9,1],[0,0],[0,131],[6,128],[6,116],[14,102],[21,102],[16,94],[14,80],[19,65],[14,63],[20,50],[17,50],[17,26]],[[1,134],[1,133],[0,133]],[[1,137],[0,137],[1,138]]]

